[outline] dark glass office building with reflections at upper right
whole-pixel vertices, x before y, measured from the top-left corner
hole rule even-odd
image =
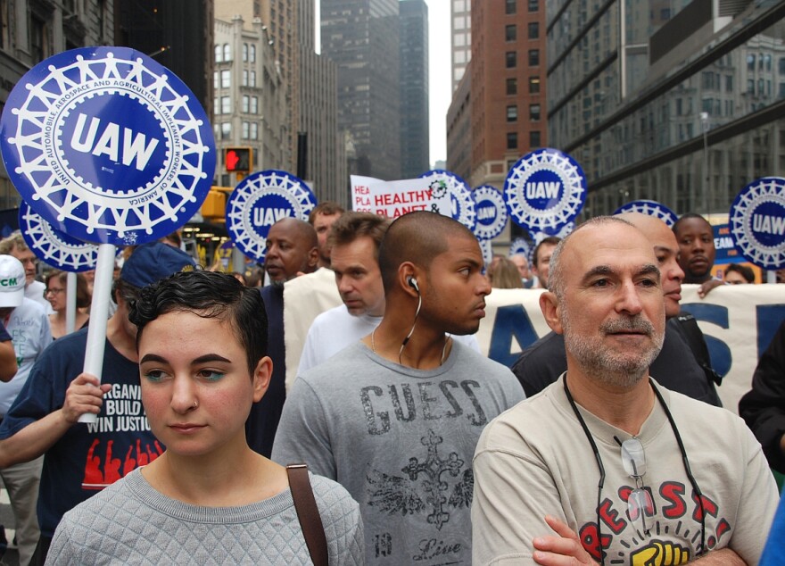
[[[785,2],[547,6],[549,145],[586,172],[585,218],[636,199],[727,213],[785,176]]]

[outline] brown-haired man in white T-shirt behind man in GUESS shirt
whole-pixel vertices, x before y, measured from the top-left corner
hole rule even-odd
[[[388,226],[389,219],[370,212],[344,212],[333,224],[328,245],[343,304],[322,312],[311,324],[298,374],[368,336],[382,321],[385,302],[379,244]],[[473,335],[453,339],[480,350]]]

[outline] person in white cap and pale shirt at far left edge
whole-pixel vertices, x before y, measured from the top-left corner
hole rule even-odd
[[[19,395],[30,368],[47,345],[52,344],[49,319],[41,304],[25,296],[25,269],[12,255],[0,255],[0,321],[11,335],[19,370],[0,383],[0,421]],[[38,542],[36,504],[43,458],[0,470],[16,518],[19,563],[28,564]]]

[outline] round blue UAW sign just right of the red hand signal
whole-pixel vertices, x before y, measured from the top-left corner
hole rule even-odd
[[[252,173],[229,196],[227,231],[243,254],[264,261],[267,235],[277,221],[308,220],[316,196],[302,179],[273,169]]]

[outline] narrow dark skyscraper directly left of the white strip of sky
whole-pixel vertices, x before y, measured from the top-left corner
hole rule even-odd
[[[401,0],[401,178],[430,169],[428,127],[428,6]]]

